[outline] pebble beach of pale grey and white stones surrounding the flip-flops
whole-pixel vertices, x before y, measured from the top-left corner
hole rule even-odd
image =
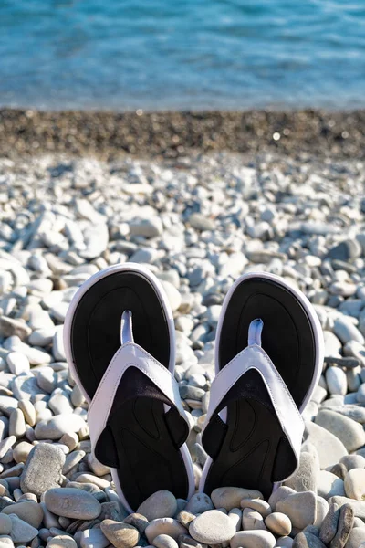
[[[34,134],[16,134],[16,123],[9,129],[20,114],[6,112],[0,116],[7,124],[0,137],[0,548],[363,548],[363,114],[350,127],[349,114],[317,113],[317,121],[335,120],[326,135],[309,117],[303,123],[310,131],[298,132],[304,150],[283,133],[299,118],[288,116],[280,129],[274,114],[257,114],[256,129],[267,121],[267,142],[260,147],[263,137],[256,135],[244,153],[233,137],[222,152],[224,132],[200,148],[198,141],[175,139],[182,148],[167,152],[162,137],[151,139],[149,150],[148,132],[140,140],[134,135],[129,153],[114,138],[104,153],[98,146],[95,153],[52,150],[57,128],[45,124],[51,136],[36,140],[35,156]],[[21,116],[41,132],[35,116]],[[202,134],[211,135],[209,128]],[[76,133],[75,142],[87,133]],[[243,272],[266,270],[313,303],[325,338],[323,374],[305,412],[300,466],[268,500],[241,486],[196,493],[190,501],[159,491],[130,515],[120,503],[110,469],[90,452],[88,405],[68,372],[62,330],[78,287],[125,261],[147,265],[172,305],[175,376],[192,426],[196,485],[207,458],[201,431],[226,291]]]

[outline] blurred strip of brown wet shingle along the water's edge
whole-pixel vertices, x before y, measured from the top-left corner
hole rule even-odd
[[[0,156],[113,159],[191,152],[365,158],[365,110],[111,112],[0,109]]]

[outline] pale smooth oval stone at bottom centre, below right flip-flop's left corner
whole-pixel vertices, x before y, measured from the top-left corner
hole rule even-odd
[[[211,546],[230,541],[235,524],[222,511],[208,510],[190,523],[189,533],[195,541]]]

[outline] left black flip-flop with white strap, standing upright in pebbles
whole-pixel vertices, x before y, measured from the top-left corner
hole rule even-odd
[[[127,510],[157,490],[193,494],[189,422],[174,380],[172,311],[150,270],[102,270],[72,300],[64,328],[71,373],[89,402],[96,458]]]

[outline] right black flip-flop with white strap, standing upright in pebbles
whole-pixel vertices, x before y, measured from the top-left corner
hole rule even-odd
[[[285,279],[248,273],[224,300],[215,343],[200,490],[235,486],[268,497],[297,469],[300,413],[323,363],[317,314]]]

